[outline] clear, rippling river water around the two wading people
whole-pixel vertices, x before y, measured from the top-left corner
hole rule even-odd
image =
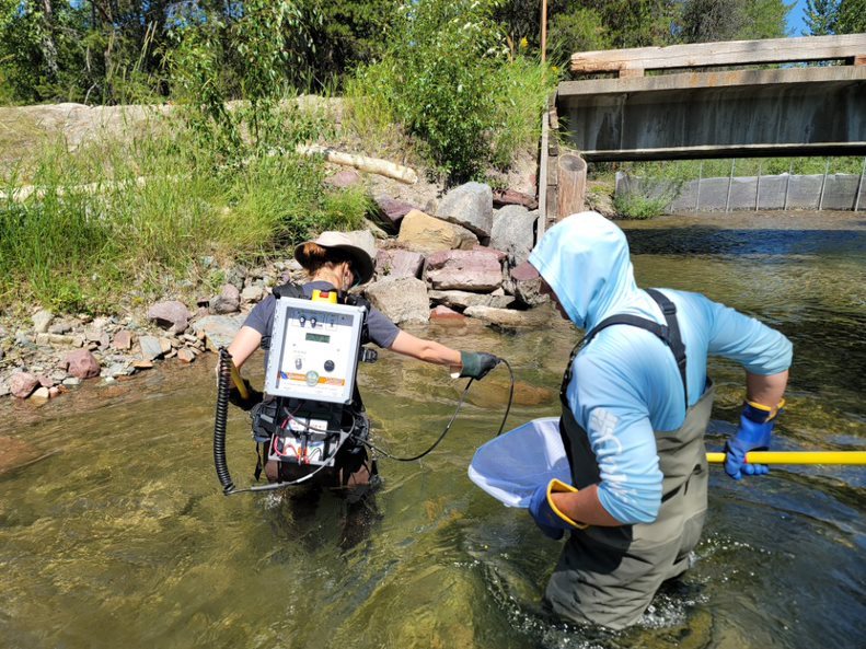
[[[623,222],[642,286],[702,291],[778,327],[795,346],[783,450],[866,449],[866,219],[851,213],[671,216]],[[577,332],[414,333],[509,359],[507,428],[556,413]],[[221,494],[212,467],[215,359],[42,408],[0,404],[24,460],[0,474],[0,647],[620,648],[863,647],[866,467],[775,467],[742,483],[712,470],[695,564],[637,627],[578,628],[540,605],[559,552],[522,510],[466,478],[507,393],[473,386],[423,461],[383,459],[374,502],[325,494]],[[257,364],[257,363],[253,363]],[[742,373],[714,361],[712,449],[734,430]],[[261,373],[253,372],[261,381]],[[446,425],[462,384],[390,352],[361,369],[379,445],[412,455]],[[252,480],[246,416],[228,457]]]

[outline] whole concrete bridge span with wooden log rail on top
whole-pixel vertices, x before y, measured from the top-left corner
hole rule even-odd
[[[744,66],[765,69],[727,69]],[[588,161],[866,153],[866,34],[582,53],[571,71],[616,74],[556,93]]]

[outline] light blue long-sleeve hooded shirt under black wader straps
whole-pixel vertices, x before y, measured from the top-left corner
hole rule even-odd
[[[530,263],[586,331],[614,314],[665,324],[661,310],[634,281],[625,235],[596,212],[554,225]],[[690,406],[704,392],[711,355],[735,360],[753,374],[776,374],[790,366],[790,343],[778,332],[698,293],[662,292],[677,305]],[[580,350],[571,372],[566,398],[589,434],[602,507],[622,523],[653,522],[663,477],[654,431],[677,430],[685,419],[673,354],[647,331],[614,326]]]

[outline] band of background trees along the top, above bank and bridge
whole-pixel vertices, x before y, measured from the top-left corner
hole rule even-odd
[[[159,101],[188,92],[189,80],[175,76],[177,62],[197,50],[198,65],[205,65],[203,47],[209,48],[207,56],[217,57],[210,71],[227,98],[244,97],[253,90],[251,83],[261,83],[262,79],[251,80],[247,74],[261,66],[273,69],[284,89],[340,89],[359,66],[393,53],[400,45],[396,40],[411,31],[406,22],[423,19],[418,9],[423,3],[0,0],[0,97]],[[471,4],[458,1],[453,11]],[[540,2],[478,0],[475,4],[495,25],[511,60],[540,54]],[[554,63],[565,63],[581,50],[783,36],[792,7],[785,0],[549,0],[547,56]],[[261,62],[255,60],[257,50],[244,54],[243,40],[261,44],[263,33],[256,36],[252,31],[269,32],[274,24],[256,27],[251,21],[272,16],[277,16],[273,20],[280,31],[280,54]],[[808,0],[806,20],[811,34],[863,32],[866,0]],[[436,28],[449,25],[444,21]],[[428,26],[419,23],[412,28]],[[461,37],[450,35],[452,40]],[[270,57],[270,51],[265,47],[262,56]],[[455,56],[463,60],[459,53]]]

